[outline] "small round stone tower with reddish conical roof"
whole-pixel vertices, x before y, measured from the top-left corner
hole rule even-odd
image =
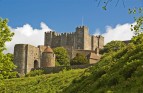
[[[41,67],[55,67],[55,54],[49,46],[42,53]]]

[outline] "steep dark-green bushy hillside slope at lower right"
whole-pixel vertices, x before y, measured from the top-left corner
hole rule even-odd
[[[74,80],[63,93],[143,93],[143,35],[101,61]]]

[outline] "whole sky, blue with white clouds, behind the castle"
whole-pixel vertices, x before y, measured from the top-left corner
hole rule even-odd
[[[111,40],[129,40],[134,24],[128,9],[143,6],[143,0],[116,0],[102,9],[98,0],[0,0],[0,17],[9,19],[9,28],[15,33],[12,42],[6,43],[7,52],[15,44],[44,44],[44,32],[74,32],[77,26],[88,26],[89,33],[103,35],[105,44]],[[102,0],[103,1],[103,0]]]

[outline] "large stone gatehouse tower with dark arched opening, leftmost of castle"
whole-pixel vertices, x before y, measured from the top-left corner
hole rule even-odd
[[[34,64],[35,63],[35,64]],[[30,72],[34,65],[40,67],[39,48],[28,44],[17,44],[14,47],[14,64],[21,74]]]

